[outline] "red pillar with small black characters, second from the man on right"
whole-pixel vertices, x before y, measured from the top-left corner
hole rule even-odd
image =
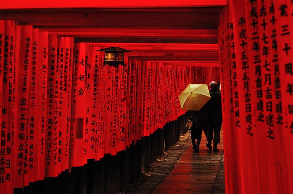
[[[231,30],[231,50],[232,50],[232,98],[234,105],[234,131],[235,134],[235,154],[237,155],[237,170],[238,170],[238,191],[246,193],[246,184],[249,184],[248,169],[242,168],[248,160],[249,151],[247,147],[247,128],[246,116],[250,110],[250,88],[247,69],[248,56],[246,49],[247,35],[246,35],[246,18],[244,10],[244,2],[233,1],[233,6],[230,6],[230,30]],[[248,112],[248,113],[247,113]]]

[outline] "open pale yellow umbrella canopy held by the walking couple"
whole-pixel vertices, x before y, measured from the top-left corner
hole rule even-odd
[[[207,84],[190,83],[178,98],[182,110],[199,111],[211,97]]]

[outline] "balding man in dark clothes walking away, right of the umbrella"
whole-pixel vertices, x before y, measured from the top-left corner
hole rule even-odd
[[[216,81],[212,81],[209,84],[210,91],[209,94],[211,99],[207,102],[207,108],[209,118],[208,123],[209,126],[207,127],[207,141],[206,146],[209,150],[212,149],[211,142],[213,140],[213,152],[218,152],[217,145],[220,143],[220,131],[222,127],[222,103],[221,103],[221,92],[220,92],[220,85]]]

